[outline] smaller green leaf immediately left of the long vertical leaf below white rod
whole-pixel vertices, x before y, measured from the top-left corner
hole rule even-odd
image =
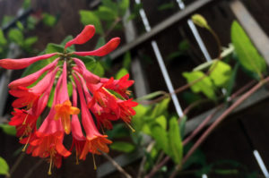
[[[154,124],[151,131],[152,137],[156,140],[157,147],[161,148],[166,154],[169,154],[167,131],[159,124]]]

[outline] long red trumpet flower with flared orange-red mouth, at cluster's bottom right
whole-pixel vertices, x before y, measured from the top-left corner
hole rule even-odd
[[[107,144],[111,144],[112,141],[106,139],[108,136],[101,135],[100,132],[97,130],[95,123],[92,120],[91,114],[87,109],[86,101],[82,93],[82,87],[80,85],[80,82],[76,79],[75,76],[74,81],[80,95],[81,107],[82,107],[82,125],[84,131],[86,132],[86,142],[84,148],[82,149],[80,159],[85,159],[89,151],[92,154],[98,154],[98,155],[100,155],[100,151],[108,153],[109,149]]]

